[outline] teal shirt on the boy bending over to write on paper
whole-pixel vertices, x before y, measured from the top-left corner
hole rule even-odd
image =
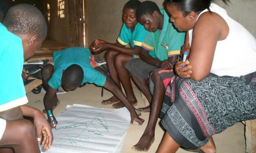
[[[72,64],[81,66],[84,71],[83,83],[95,83],[98,86],[103,86],[106,82],[106,77],[95,70],[90,62],[91,51],[82,47],[71,47],[62,51],[53,52],[54,72],[48,84],[53,89],[58,89],[61,85],[63,70],[66,70]]]

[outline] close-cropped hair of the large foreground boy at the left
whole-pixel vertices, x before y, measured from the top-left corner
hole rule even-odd
[[[16,35],[32,33],[38,35],[38,39],[45,39],[47,35],[47,24],[44,16],[30,4],[18,4],[11,7],[2,24]]]

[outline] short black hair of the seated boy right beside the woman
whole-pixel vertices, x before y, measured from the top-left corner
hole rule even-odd
[[[160,13],[160,9],[157,4],[152,1],[144,1],[136,10],[136,19],[139,20],[139,18],[145,14],[152,15],[154,11],[158,11],[158,13]]]

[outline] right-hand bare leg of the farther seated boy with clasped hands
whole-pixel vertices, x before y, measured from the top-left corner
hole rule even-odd
[[[131,86],[130,74],[129,74],[129,71],[124,66],[127,61],[133,58],[134,58],[133,55],[119,53],[114,58],[114,66],[116,68],[116,72],[118,73],[118,77],[120,78],[120,81],[122,83],[122,86],[125,89],[125,93],[128,101],[131,103],[131,105],[136,106],[138,104],[138,101],[134,95],[134,91]],[[114,108],[117,108],[117,109],[121,107],[125,107],[125,105],[123,105],[123,103],[121,102],[116,103],[114,105],[115,105]]]

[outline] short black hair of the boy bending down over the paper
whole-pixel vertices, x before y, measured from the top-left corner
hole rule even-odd
[[[62,80],[69,87],[78,87],[84,79],[84,71],[81,66],[72,64],[62,74]]]

